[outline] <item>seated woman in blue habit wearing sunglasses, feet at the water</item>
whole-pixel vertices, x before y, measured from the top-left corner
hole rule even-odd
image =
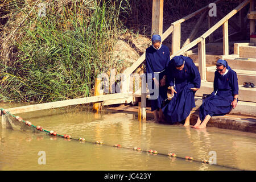
[[[237,73],[228,65],[226,60],[219,59],[214,73],[213,92],[200,106],[200,113],[195,127],[202,129],[207,126],[213,115],[225,115],[238,102],[238,80]],[[203,121],[203,122],[202,122]]]

